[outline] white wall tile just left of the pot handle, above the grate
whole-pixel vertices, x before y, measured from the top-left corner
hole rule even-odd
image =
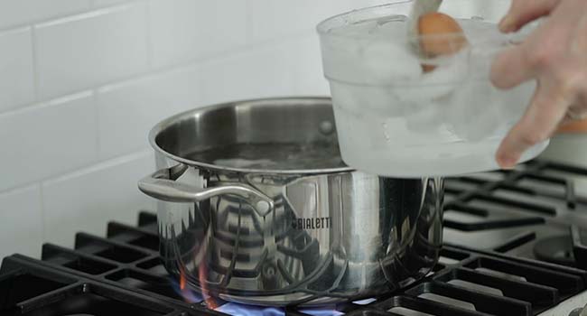
[[[136,182],[154,172],[150,151],[118,158],[42,184],[45,239],[73,246],[79,231],[105,236],[108,221],[136,225],[139,209],[154,209],[154,200]]]

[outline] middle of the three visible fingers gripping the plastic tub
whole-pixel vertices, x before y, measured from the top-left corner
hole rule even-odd
[[[514,88],[532,79],[535,68],[528,58],[526,44],[501,52],[491,65],[491,82],[497,88]]]

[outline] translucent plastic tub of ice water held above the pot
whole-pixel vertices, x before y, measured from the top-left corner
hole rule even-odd
[[[345,163],[391,177],[498,169],[498,144],[523,115],[536,84],[494,88],[491,61],[512,38],[493,23],[458,21],[469,45],[435,60],[410,49],[417,39],[406,38],[403,15],[341,23],[321,33]],[[437,68],[424,73],[423,62]],[[536,145],[523,160],[545,146]]]

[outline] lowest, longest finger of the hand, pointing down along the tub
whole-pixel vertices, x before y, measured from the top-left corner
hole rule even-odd
[[[511,169],[522,153],[551,135],[564,119],[566,98],[553,88],[539,85],[526,114],[517,122],[501,142],[496,159],[501,168]]]

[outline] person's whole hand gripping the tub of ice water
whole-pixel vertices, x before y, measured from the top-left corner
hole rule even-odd
[[[502,168],[513,168],[559,125],[587,114],[587,0],[512,0],[499,29],[516,32],[546,15],[525,42],[499,54],[492,65],[491,81],[498,88],[537,81],[525,115],[499,145],[496,160]]]

